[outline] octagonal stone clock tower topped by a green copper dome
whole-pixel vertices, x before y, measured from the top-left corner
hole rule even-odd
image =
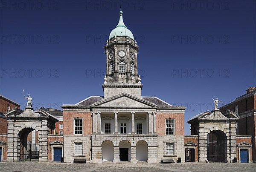
[[[119,23],[110,33],[109,39],[104,46],[107,72],[102,86],[105,98],[122,92],[141,97],[142,84],[140,83],[141,79],[138,75],[137,64],[139,46],[137,46],[131,31],[125,26],[122,13],[121,9],[119,12]],[[110,87],[116,89],[113,90],[113,94],[106,95],[106,88]],[[136,88],[140,89],[139,95],[137,91],[128,90]]]

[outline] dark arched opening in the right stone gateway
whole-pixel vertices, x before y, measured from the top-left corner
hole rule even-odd
[[[213,130],[207,135],[207,159],[212,162],[225,162],[226,135],[221,130]]]

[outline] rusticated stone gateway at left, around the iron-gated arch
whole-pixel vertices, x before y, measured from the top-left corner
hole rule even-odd
[[[3,115],[9,119],[6,161],[20,161],[21,154],[25,156],[23,150],[28,149],[27,136],[34,130],[38,133],[39,146],[33,149],[39,149],[39,161],[48,161],[48,134],[50,130],[54,130],[58,119],[41,109],[34,111],[32,107],[25,107],[24,111],[13,108]]]

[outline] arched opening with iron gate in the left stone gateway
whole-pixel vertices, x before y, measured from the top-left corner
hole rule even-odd
[[[20,130],[18,136],[18,141],[20,142],[20,161],[38,161],[38,133],[35,129],[24,128]]]

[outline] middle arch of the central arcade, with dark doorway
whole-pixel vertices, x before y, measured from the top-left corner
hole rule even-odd
[[[119,159],[120,161],[131,161],[131,143],[122,140],[119,143]]]

